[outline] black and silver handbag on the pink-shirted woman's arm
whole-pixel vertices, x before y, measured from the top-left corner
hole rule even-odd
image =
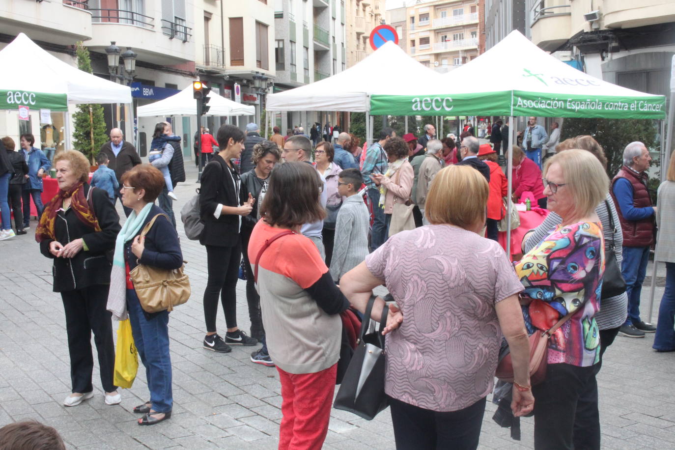
[[[382,330],[387,325],[389,307],[382,310],[379,331],[366,334],[373,303],[375,296],[371,296],[366,307],[356,351],[333,404],[337,410],[353,412],[366,420],[372,420],[388,404],[384,393],[385,337]]]

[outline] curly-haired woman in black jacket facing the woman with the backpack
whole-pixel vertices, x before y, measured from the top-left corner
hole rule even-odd
[[[240,234],[242,241],[242,256],[244,257],[244,269],[246,270],[246,302],[248,302],[248,316],[251,320],[251,337],[263,342],[263,348],[254,351],[251,354],[251,361],[264,366],[273,366],[274,363],[267,353],[265,345],[265,330],[263,329],[263,318],[260,312],[260,296],[255,288],[253,279],[253,270],[251,268],[250,258],[248,257],[248,240],[251,237],[253,227],[260,219],[258,206],[263,202],[263,196],[267,192],[267,179],[274,165],[279,162],[281,152],[279,146],[269,140],[263,140],[253,147],[253,164],[255,167],[242,173],[242,186],[240,188],[240,202],[246,203],[248,198],[253,198],[253,209],[249,215],[242,217],[242,232]],[[256,256],[254,255],[253,258]]]

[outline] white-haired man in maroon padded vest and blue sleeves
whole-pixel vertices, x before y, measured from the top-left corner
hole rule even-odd
[[[626,337],[645,337],[656,327],[640,319],[640,294],[647,273],[649,248],[654,242],[656,207],[651,203],[647,169],[649,150],[642,142],[630,142],[624,149],[624,165],[612,179],[612,198],[623,231],[621,275],[626,281],[628,318],[619,329]]]

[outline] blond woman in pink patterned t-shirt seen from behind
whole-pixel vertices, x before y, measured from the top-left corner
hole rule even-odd
[[[529,343],[518,306],[522,285],[499,244],[480,235],[488,193],[485,177],[472,167],[441,169],[425,204],[431,225],[389,237],[340,279],[360,311],[373,289],[386,285],[402,313],[400,328],[385,343],[385,393],[397,449],[478,447],[502,334],[520,387],[512,411],[532,410]],[[377,298],[373,316],[383,305]]]

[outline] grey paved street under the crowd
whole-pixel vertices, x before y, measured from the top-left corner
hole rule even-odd
[[[31,233],[0,242],[0,426],[33,418],[54,426],[68,449],[277,448],[281,389],[275,368],[249,361],[250,352],[257,347],[235,346],[230,354],[202,349],[206,254],[198,242],[185,237],[180,223],[180,206],[198,187],[194,165],[187,163],[186,169],[190,181],[178,186],[180,201],[175,202],[174,212],[184,259],[188,260],[186,273],[192,283],[192,297],[176,308],[169,320],[174,397],[171,420],[149,427],[136,425],[138,416],[132,408],[148,399],[140,362],[132,389],[121,390],[121,405],[103,402],[97,367],[93,376],[97,395],[76,407],[62,405],[70,393],[63,304],[59,294],[51,291],[51,261],[38,251],[33,220]],[[118,210],[124,217],[119,204]],[[662,266],[653,320],[664,290]],[[643,289],[643,320],[647,320],[649,282],[648,276]],[[248,331],[242,281],[238,283],[237,306],[239,325]],[[222,310],[219,314],[219,326],[224,328]],[[644,339],[617,337],[605,353],[598,375],[603,448],[675,448],[675,353],[657,354],[651,349],[652,342],[653,334]],[[533,448],[532,418],[522,420],[522,441],[512,441],[509,430],[492,421],[494,411],[495,406],[488,402],[480,448]],[[394,447],[389,410],[370,422],[348,412],[332,411],[325,449]]]

